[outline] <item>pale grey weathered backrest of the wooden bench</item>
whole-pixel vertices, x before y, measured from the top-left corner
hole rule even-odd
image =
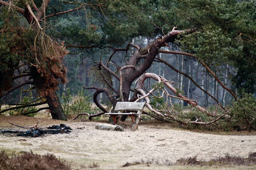
[[[145,105],[144,102],[117,102],[115,111],[124,111],[124,110],[142,111],[144,105]]]

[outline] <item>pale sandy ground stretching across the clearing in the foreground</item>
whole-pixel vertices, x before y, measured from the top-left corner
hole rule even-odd
[[[36,124],[40,120],[39,125],[42,127],[63,122],[52,119],[0,116],[0,129],[10,128],[10,125],[6,124],[7,119],[24,126]],[[165,160],[175,162],[179,158],[190,156],[209,160],[216,156],[224,156],[226,153],[246,157],[249,152],[256,152],[255,135],[213,135],[152,125],[139,125],[135,132],[129,129],[117,132],[95,129],[98,122],[64,123],[73,129],[72,133],[34,138],[0,134],[0,150],[6,150],[8,153],[29,152],[30,150],[40,154],[54,153],[60,158],[71,161],[74,169],[83,169],[82,167],[98,163],[99,169],[102,170],[126,170],[129,167],[120,167],[126,162],[139,160],[154,159],[159,163]],[[77,129],[81,127],[84,128]],[[166,166],[154,166],[138,165],[130,169],[170,169]],[[185,168],[183,167],[182,170]],[[253,170],[256,166],[250,168]],[[177,167],[176,169],[179,170]]]

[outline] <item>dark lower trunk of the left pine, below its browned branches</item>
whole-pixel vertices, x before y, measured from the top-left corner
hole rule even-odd
[[[52,97],[54,97],[55,99],[52,99]],[[53,119],[67,120],[66,115],[64,114],[64,110],[59,102],[57,94],[54,93],[52,97],[46,96],[45,98],[51,110],[51,115]]]

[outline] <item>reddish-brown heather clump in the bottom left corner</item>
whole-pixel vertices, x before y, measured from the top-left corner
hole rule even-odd
[[[8,156],[0,152],[0,170],[71,170],[70,165],[53,154],[24,153]]]

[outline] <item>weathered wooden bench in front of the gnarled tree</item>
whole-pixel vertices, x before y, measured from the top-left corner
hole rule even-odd
[[[144,102],[117,102],[115,112],[118,113],[105,113],[105,115],[110,115],[115,124],[120,121],[122,115],[128,115],[133,121],[132,131],[135,131],[138,127],[138,121],[144,105]],[[125,113],[125,111],[129,111],[129,113]]]

